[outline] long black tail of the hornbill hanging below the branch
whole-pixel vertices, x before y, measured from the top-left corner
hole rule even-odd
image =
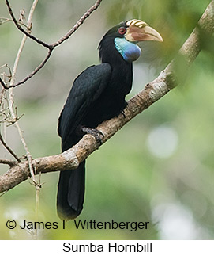
[[[58,181],[57,211],[63,220],[75,219],[81,214],[84,203],[85,161],[75,170],[60,172]]]

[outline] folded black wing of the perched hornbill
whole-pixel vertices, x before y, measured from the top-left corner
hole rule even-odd
[[[111,66],[108,63],[88,67],[77,76],[58,120],[58,135],[62,141],[68,139],[81,124],[81,119],[103,92],[110,77]]]

